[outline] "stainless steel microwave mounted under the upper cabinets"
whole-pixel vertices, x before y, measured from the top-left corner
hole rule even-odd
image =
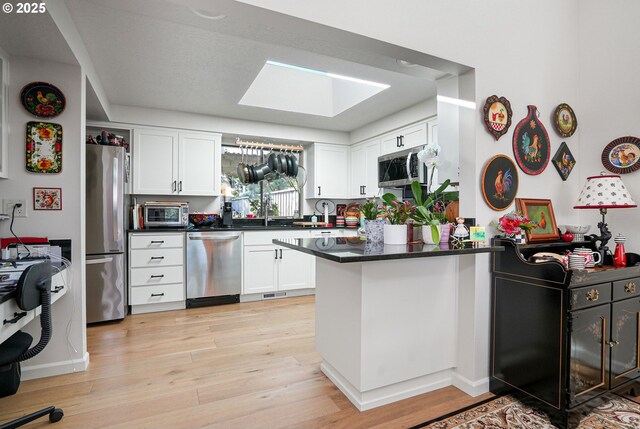
[[[414,180],[426,183],[427,167],[418,159],[420,150],[414,147],[378,157],[378,187],[401,187]]]

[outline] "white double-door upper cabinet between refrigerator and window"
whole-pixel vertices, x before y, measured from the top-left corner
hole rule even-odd
[[[133,193],[219,195],[220,142],[214,133],[134,130]]]

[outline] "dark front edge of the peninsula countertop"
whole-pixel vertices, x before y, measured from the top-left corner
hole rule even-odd
[[[287,243],[278,239],[272,240],[273,244],[278,246],[287,247],[289,249],[298,250],[309,255],[317,256],[319,258],[327,259],[329,261],[338,263],[349,262],[369,262],[369,261],[390,261],[394,259],[416,259],[416,258],[433,258],[438,256],[456,256],[456,255],[471,255],[476,253],[491,253],[502,252],[505,250],[504,246],[491,246],[482,248],[469,248],[469,249],[448,249],[434,252],[416,252],[416,253],[401,253],[401,254],[389,254],[389,255],[363,255],[363,256],[344,256],[340,257],[335,254],[320,252],[306,247],[301,247],[296,244]]]

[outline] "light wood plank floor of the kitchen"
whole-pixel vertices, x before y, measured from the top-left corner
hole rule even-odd
[[[128,316],[89,327],[86,372],[23,382],[0,422],[28,427],[406,428],[477,402],[456,388],[359,412],[320,372],[313,297]]]

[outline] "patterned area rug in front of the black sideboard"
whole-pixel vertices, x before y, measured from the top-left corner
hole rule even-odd
[[[599,406],[586,409],[570,425],[577,429],[638,429],[640,404],[617,395],[607,395]],[[555,429],[547,415],[511,396],[484,401],[412,429]]]

